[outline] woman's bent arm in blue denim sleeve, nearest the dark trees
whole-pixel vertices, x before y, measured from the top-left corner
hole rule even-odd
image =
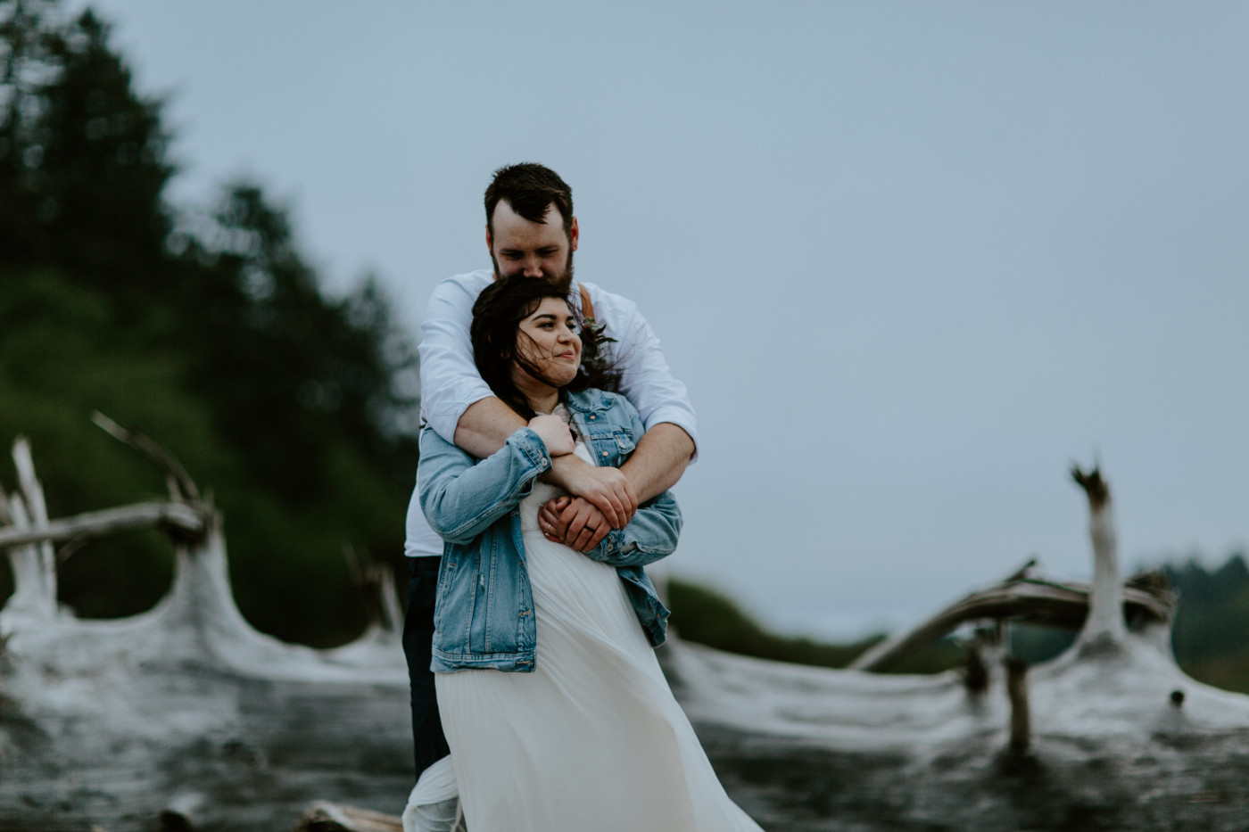
[[[430,527],[450,543],[467,543],[527,497],[550,467],[547,446],[530,427],[480,462],[426,427],[416,490]]]

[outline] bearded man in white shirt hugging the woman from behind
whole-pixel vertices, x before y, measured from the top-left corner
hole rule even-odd
[[[500,277],[548,280],[568,291],[568,302],[590,316],[615,341],[605,357],[621,372],[621,392],[637,407],[646,433],[620,470],[595,467],[575,455],[553,458],[546,478],[571,497],[547,503],[540,523],[547,537],[588,551],[612,528],[623,527],[639,502],[681,478],[696,450],[697,423],[684,385],[672,377],[659,342],[637,307],[593,284],[573,285],[572,255],[580,229],[572,189],[548,167],[512,165],[495,171],[486,189],[486,247],[492,270],[450,277],[433,290],[422,324],[421,415],[443,438],[483,458],[526,420],[481,380],[473,364],[468,327],[482,289]],[[403,625],[403,652],[412,683],[412,733],[417,777],[448,753],[438,721],[430,671],[433,601],[442,540],[430,528],[418,496],[407,512],[405,553],[412,557],[412,582]]]

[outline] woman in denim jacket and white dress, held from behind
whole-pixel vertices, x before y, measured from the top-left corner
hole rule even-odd
[[[672,495],[585,555],[537,525],[560,495],[538,482],[551,457],[622,465],[644,431],[637,411],[588,386],[575,317],[545,280],[487,287],[471,334],[482,379],[530,422],[481,461],[421,435],[421,507],[447,541],[433,671],[468,828],[758,830],[652,650],[668,611],[642,567],[676,547]]]

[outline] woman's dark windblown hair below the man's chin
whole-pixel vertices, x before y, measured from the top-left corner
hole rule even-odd
[[[568,297],[550,281],[515,275],[492,282],[482,290],[477,302],[472,305],[472,326],[468,329],[468,336],[472,340],[477,372],[496,396],[525,418],[533,418],[535,414],[528,400],[512,382],[512,362],[521,365],[535,379],[545,376],[521,350],[516,349],[516,339],[522,337],[521,321],[532,315],[538,304],[547,297],[568,301]],[[611,339],[606,337],[602,327],[585,326],[572,304],[568,304],[568,310],[581,335],[581,369],[577,371],[577,377],[565,385],[561,392],[587,387],[616,392],[620,389],[620,374],[603,366],[600,349]]]

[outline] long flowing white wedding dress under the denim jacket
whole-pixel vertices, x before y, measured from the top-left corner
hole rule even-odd
[[[470,832],[759,830],[719,785],[616,570],[538,531],[558,493],[540,482],[521,503],[535,671],[436,678]]]

